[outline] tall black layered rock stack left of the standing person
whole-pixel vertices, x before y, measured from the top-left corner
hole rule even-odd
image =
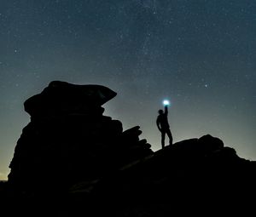
[[[124,168],[153,153],[142,131],[102,115],[116,95],[101,85],[54,81],[24,103],[31,122],[23,128],[9,165],[18,191],[66,191]]]

